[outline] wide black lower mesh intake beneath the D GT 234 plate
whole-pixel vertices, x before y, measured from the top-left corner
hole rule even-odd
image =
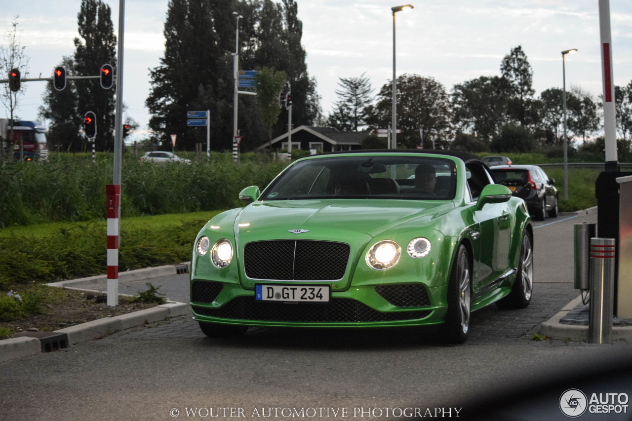
[[[199,315],[221,319],[262,320],[269,322],[391,322],[423,319],[430,310],[379,312],[349,298],[332,298],[329,303],[260,303],[253,297],[234,298],[220,308],[193,305]]]

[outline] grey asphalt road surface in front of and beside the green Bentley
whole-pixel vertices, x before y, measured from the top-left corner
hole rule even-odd
[[[573,290],[573,224],[590,219],[596,221],[596,214],[562,214],[538,223],[532,305],[476,312],[463,345],[441,345],[420,329],[258,328],[240,338],[210,339],[182,317],[0,362],[0,419],[388,420],[414,415],[404,408],[419,408],[417,415],[425,417],[470,419],[483,401],[489,405],[487,419],[494,419],[501,404],[513,401],[502,394],[518,389],[513,396],[523,406],[505,410],[502,419],[567,419],[558,408],[566,389],[581,385],[592,388],[584,390],[587,394],[632,396],[630,381],[612,389],[594,377],[586,386],[593,379],[588,376],[595,375],[590,370],[629,359],[627,343],[531,339],[538,323],[578,295]],[[166,289],[174,284],[177,294],[186,290],[186,275],[154,280],[161,283]],[[564,382],[573,375],[583,380]],[[550,391],[542,386],[551,381],[562,383]],[[530,386],[540,391],[539,398],[533,389],[521,389]],[[195,416],[192,408],[197,408]],[[533,418],[534,410],[542,416]],[[617,416],[586,412],[581,419],[629,419],[629,411]]]

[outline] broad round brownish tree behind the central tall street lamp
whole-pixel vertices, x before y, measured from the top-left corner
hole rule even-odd
[[[404,74],[397,79],[398,129],[402,135],[398,142],[414,148],[421,141],[446,143],[451,140],[451,107],[446,88],[434,78]],[[370,123],[386,126],[391,122],[392,82],[377,94]]]

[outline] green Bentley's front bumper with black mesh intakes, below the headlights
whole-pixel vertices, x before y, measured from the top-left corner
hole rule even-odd
[[[332,291],[327,303],[260,302],[240,285],[193,280],[191,310],[198,322],[247,326],[379,327],[442,323],[445,287],[384,284]],[[434,305],[431,305],[433,303]]]

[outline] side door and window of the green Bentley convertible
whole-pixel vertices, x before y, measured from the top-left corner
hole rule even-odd
[[[468,186],[472,199],[476,201],[483,188],[493,184],[493,178],[479,162],[468,162],[466,168],[471,174]],[[493,286],[494,281],[508,269],[511,217],[507,202],[486,204],[483,209],[473,207],[473,219],[478,224],[477,238],[471,236],[477,241],[474,259],[478,260],[472,280],[474,296],[477,296],[477,291],[482,294],[487,287]]]

